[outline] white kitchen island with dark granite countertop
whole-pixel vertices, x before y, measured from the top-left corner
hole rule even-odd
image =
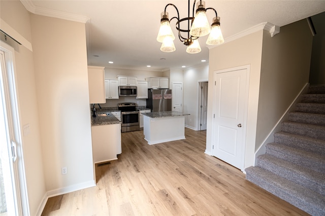
[[[177,111],[143,113],[144,139],[149,145],[185,139],[186,115]]]

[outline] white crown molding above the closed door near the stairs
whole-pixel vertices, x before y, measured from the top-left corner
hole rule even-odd
[[[233,40],[236,40],[236,39],[239,39],[246,35],[252,34],[259,30],[267,30],[268,32],[270,32],[271,37],[273,37],[274,35],[276,35],[277,33],[280,32],[280,26],[274,25],[269,22],[259,23],[257,25],[254,25],[254,26],[248,28],[248,29],[238,32],[237,34],[234,34],[230,37],[225,38],[223,44],[233,41]],[[220,46],[220,45],[217,45],[217,46]],[[214,47],[216,47],[216,46],[208,46],[209,49],[214,48]]]

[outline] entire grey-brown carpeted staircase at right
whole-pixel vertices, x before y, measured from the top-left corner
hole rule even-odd
[[[325,85],[310,85],[246,179],[311,215],[325,215]]]

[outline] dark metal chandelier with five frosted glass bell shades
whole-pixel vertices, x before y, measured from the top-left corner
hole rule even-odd
[[[178,30],[178,38],[180,39],[180,41],[183,42],[184,45],[187,46],[187,53],[194,54],[201,52],[201,47],[198,38],[201,36],[208,35],[209,33],[210,35],[206,42],[207,45],[219,45],[224,42],[220,29],[220,17],[218,17],[216,10],[214,10],[213,8],[205,8],[205,2],[198,1],[196,14],[194,16],[194,9],[196,3],[196,0],[194,0],[192,16],[190,17],[189,2],[190,1],[188,0],[188,17],[180,19],[178,9],[173,4],[166,5],[165,11],[161,13],[160,28],[157,35],[157,41],[162,43],[160,47],[161,51],[174,52],[176,50],[173,42],[173,40],[175,40],[175,36],[170,26],[170,21],[172,21],[173,19],[177,20],[176,29]],[[166,12],[168,6],[173,6],[176,9],[177,17],[173,17],[169,20],[168,12]],[[211,28],[208,22],[208,18],[206,16],[207,10],[213,10],[215,12],[215,17],[213,18]],[[181,23],[184,23],[186,21],[187,28],[184,29],[182,27],[181,29]]]

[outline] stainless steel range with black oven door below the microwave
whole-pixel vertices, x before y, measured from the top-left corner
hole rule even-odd
[[[121,110],[121,132],[140,130],[140,113],[136,109],[135,103],[119,103],[118,109]]]

